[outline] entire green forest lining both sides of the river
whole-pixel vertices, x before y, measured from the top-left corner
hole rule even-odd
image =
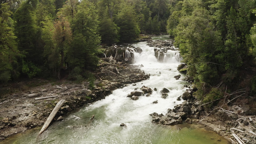
[[[0,27],[1,84],[63,70],[86,78],[104,46],[169,34],[198,98],[243,87],[246,75],[256,92],[255,0],[0,0]]]

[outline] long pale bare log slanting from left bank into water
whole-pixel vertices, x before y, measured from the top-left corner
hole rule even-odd
[[[43,133],[49,126],[51,120],[55,117],[55,115],[57,114],[57,112],[59,111],[59,109],[61,108],[61,106],[64,104],[65,100],[61,99],[55,106],[55,108],[53,108],[52,112],[50,113],[49,117],[47,118],[47,120],[45,121],[44,126],[42,127],[41,131],[39,132],[38,135],[40,135],[41,133]]]

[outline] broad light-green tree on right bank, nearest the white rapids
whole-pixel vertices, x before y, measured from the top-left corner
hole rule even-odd
[[[184,62],[191,65],[188,74],[195,77],[196,82],[212,85],[219,79],[215,56],[220,47],[220,38],[205,9],[195,9],[191,16],[180,20],[175,40]]]

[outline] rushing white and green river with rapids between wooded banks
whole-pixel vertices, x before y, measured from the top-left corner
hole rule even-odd
[[[149,114],[165,114],[168,108],[183,102],[176,99],[186,90],[183,85],[187,83],[182,78],[173,78],[181,74],[177,71],[181,63],[177,57],[178,50],[169,50],[171,57],[160,63],[154,56],[154,48],[147,46],[146,42],[134,46],[143,50],[141,54],[134,53],[134,64],[144,66],[140,68],[150,73],[149,80],[114,90],[106,99],[53,123],[38,138],[39,128],[18,134],[4,144],[229,144],[215,132],[199,128],[199,125],[162,126],[151,123]],[[140,96],[138,100],[126,97],[143,85],[157,91],[148,97]],[[166,99],[160,94],[164,87],[170,90]],[[158,103],[153,104],[156,100]],[[92,115],[95,119],[90,122]],[[121,127],[121,123],[126,126]]]

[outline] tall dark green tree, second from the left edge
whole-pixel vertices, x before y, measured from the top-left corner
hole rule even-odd
[[[24,52],[25,61],[40,63],[42,49],[37,48],[36,8],[38,0],[25,0],[14,13],[15,35],[18,40],[18,49]]]

